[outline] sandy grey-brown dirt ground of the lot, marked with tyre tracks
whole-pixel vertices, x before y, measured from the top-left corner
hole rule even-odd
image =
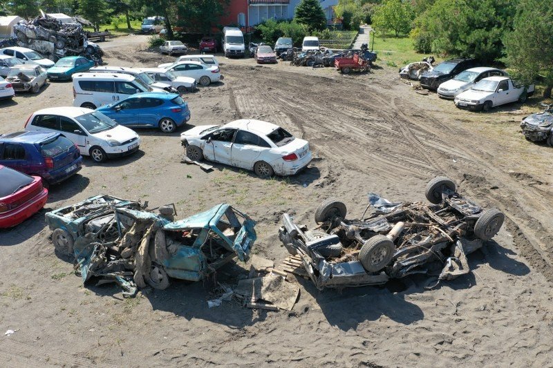
[[[146,37],[102,43],[106,61],[156,66]],[[84,159],[78,175],[53,186],[46,208],[0,231],[0,361],[24,366],[339,366],[552,367],[553,150],[519,133],[530,110],[458,110],[397,79],[395,68],[368,75],[256,66],[223,57],[222,83],[186,96],[191,125],[265,119],[308,139],[315,159],[295,177],[259,180],[215,164],[204,173],[181,164],[179,133],[139,130],[140,151],[105,164]],[[0,133],[24,126],[39,108],[70,106],[70,83],[50,83],[0,107]],[[533,99],[529,102],[532,103]],[[229,202],[259,222],[254,253],[287,255],[277,238],[281,214],[314,225],[328,197],[361,215],[366,193],[424,200],[424,185],[447,175],[460,193],[506,215],[502,231],[469,258],[467,277],[427,290],[426,278],[384,287],[317,291],[299,279],[290,312],[254,311],[237,302],[208,309],[214,285],[232,285],[247,265],[229,264],[215,280],[172,280],[165,291],[122,298],[118,287],[83,287],[58,258],[44,213],[98,193],[174,202],[178,217]],[[11,336],[3,332],[16,330]]]

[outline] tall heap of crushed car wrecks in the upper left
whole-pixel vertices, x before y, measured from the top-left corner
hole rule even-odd
[[[102,50],[87,41],[78,23],[61,23],[43,13],[28,24],[17,23],[14,32],[17,46],[38,51],[53,61],[66,56],[83,56],[102,64]]]

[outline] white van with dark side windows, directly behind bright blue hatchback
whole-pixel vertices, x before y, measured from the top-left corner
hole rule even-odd
[[[73,106],[75,107],[94,110],[141,92],[149,92],[149,88],[129,74],[84,72],[73,75]]]

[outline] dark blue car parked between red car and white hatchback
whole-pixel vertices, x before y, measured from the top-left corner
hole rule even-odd
[[[17,132],[0,135],[0,165],[57,184],[82,168],[82,157],[73,142],[59,133]]]

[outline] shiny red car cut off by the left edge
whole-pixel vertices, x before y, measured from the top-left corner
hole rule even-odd
[[[42,179],[0,165],[0,229],[21,224],[48,200]]]

